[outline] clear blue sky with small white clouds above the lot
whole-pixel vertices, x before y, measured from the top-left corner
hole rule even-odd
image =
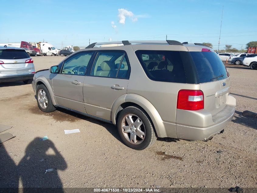
[[[256,0],[0,0],[0,43],[86,46],[121,40],[211,42],[241,49],[257,41]],[[125,18],[125,20],[124,20]]]

